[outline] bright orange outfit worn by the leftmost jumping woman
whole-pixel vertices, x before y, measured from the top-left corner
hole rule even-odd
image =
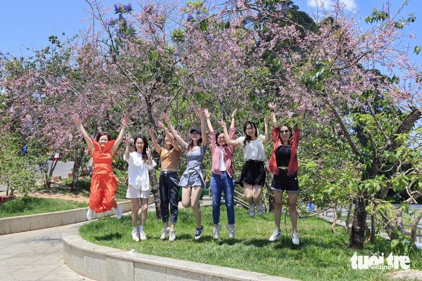
[[[101,149],[101,145],[91,138],[94,143],[94,153],[90,149],[94,161],[94,171],[91,178],[91,193],[89,194],[89,209],[96,213],[103,213],[117,208],[115,195],[117,192],[117,179],[113,173],[113,156],[111,148],[115,140],[109,141]]]

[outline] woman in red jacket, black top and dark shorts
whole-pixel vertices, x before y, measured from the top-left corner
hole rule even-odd
[[[276,113],[274,112],[275,108],[276,105],[274,103],[269,103],[273,122],[271,135],[274,147],[269,158],[268,169],[274,174],[271,190],[274,192],[274,223],[276,225],[276,229],[271,237],[269,237],[269,241],[276,241],[281,236],[281,207],[283,203],[283,191],[286,191],[288,193],[290,220],[292,221],[292,242],[298,245],[298,211],[296,209],[296,203],[298,202],[299,194],[297,150],[300,130],[298,126],[295,126],[293,132],[286,125],[278,126]]]

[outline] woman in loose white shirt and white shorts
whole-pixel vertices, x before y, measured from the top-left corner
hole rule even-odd
[[[148,170],[153,169],[157,164],[151,155],[151,148],[148,147],[148,141],[145,136],[136,136],[134,146],[136,150],[129,152],[131,145],[130,137],[126,136],[126,150],[123,159],[129,163],[129,180],[126,197],[132,201],[132,239],[136,242],[146,240],[146,234],[143,231],[143,224],[146,220],[148,211],[148,199],[150,192],[150,182]],[[141,224],[137,226],[139,201],[141,201]]]

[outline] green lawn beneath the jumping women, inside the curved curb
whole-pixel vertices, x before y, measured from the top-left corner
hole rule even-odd
[[[211,207],[202,207],[205,233],[200,241],[193,240],[194,218],[191,209],[179,211],[177,240],[169,242],[159,238],[162,223],[155,214],[148,214],[145,231],[148,240],[134,242],[129,216],[121,221],[116,218],[101,218],[79,228],[85,240],[108,247],[139,253],[166,256],[173,259],[209,263],[251,270],[269,275],[292,277],[300,280],[385,280],[385,270],[353,270],[350,258],[354,251],[347,249],[348,235],[343,228],[331,233],[330,224],[319,218],[299,221],[301,244],[295,246],[290,240],[290,219],[288,233],[277,242],[268,238],[274,230],[273,214],[250,218],[245,209],[236,208],[236,238],[230,240],[227,229],[222,228],[219,240],[212,239]],[[226,224],[226,212],[222,207],[221,223]],[[378,239],[376,245],[365,244],[358,254],[386,252],[388,244]],[[411,258],[411,261],[414,261]],[[421,262],[414,262],[411,268],[421,268]]]

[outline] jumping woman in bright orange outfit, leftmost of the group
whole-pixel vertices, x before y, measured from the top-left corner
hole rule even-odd
[[[111,140],[108,133],[98,133],[96,138],[89,138],[87,131],[77,115],[72,116],[73,122],[79,128],[88,145],[88,150],[94,160],[94,171],[92,171],[91,188],[89,193],[89,209],[87,211],[87,220],[91,220],[96,213],[103,213],[112,208],[116,209],[117,218],[122,217],[122,211],[115,201],[117,192],[117,179],[113,173],[113,156],[117,152],[124,129],[127,126],[127,118],[122,119],[122,129],[117,140]]]

